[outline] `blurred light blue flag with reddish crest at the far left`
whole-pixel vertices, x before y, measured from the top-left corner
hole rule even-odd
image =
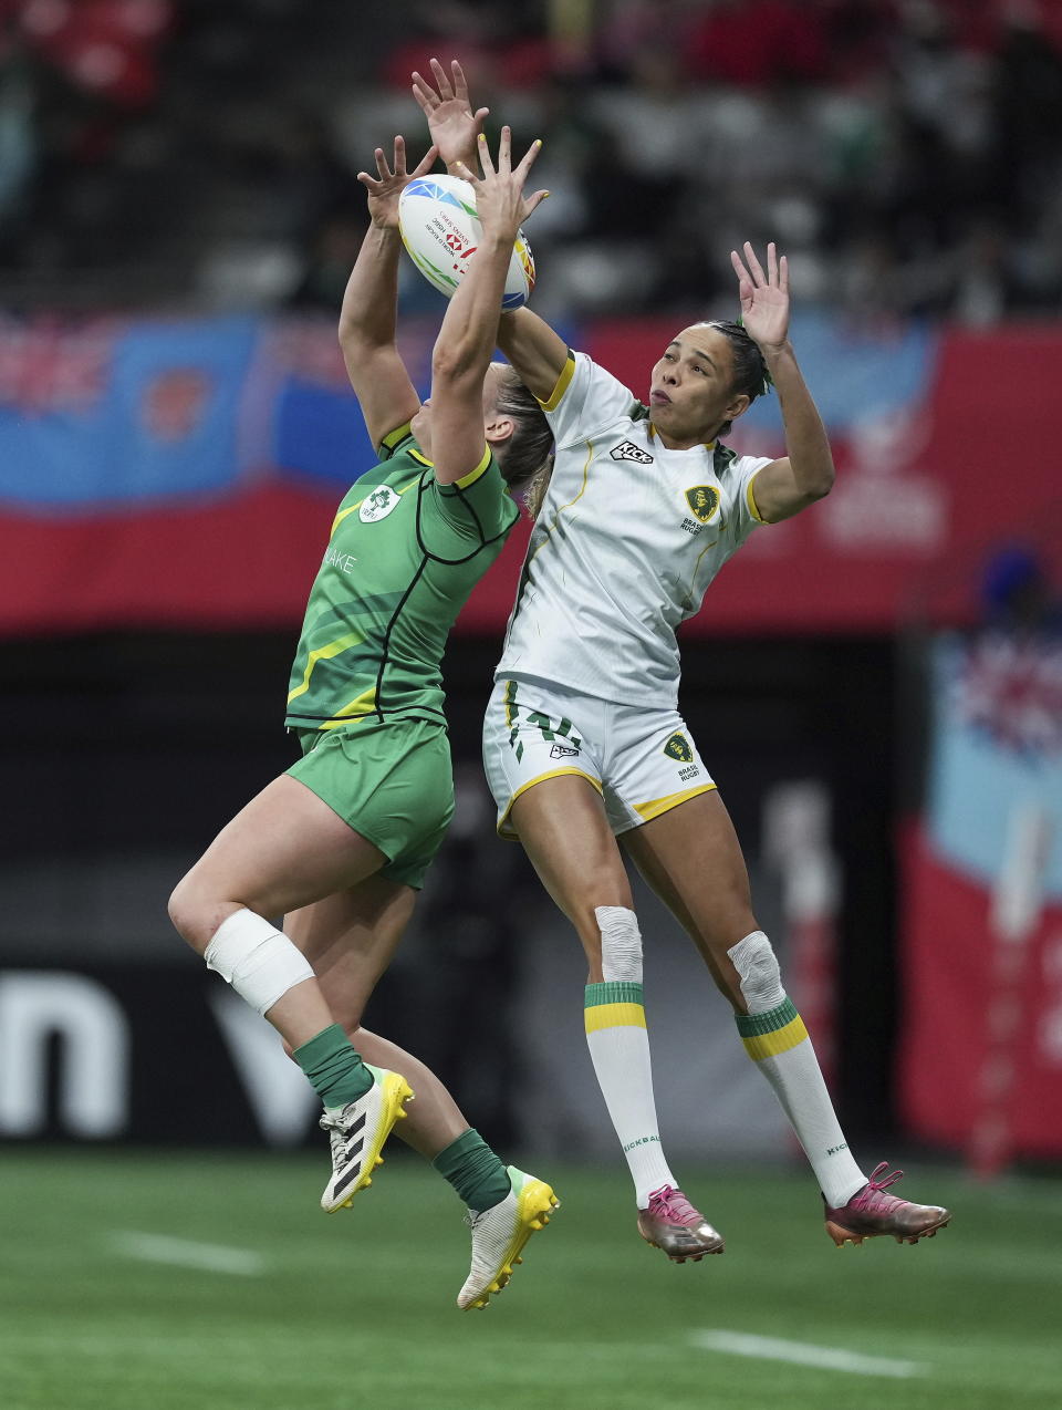
[[[256,341],[245,317],[6,323],[0,503],[69,515],[224,492]]]

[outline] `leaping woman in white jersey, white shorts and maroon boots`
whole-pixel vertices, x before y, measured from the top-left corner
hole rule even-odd
[[[468,161],[473,113],[459,65],[432,61],[414,96],[439,155]],[[937,1206],[868,1179],[832,1110],[807,1031],[752,912],[727,809],[677,713],[676,627],[758,525],[827,495],[825,429],[789,343],[786,259],[731,255],[742,324],[694,323],[656,350],[642,403],[528,309],[499,345],[552,426],[554,471],[528,546],[487,709],[483,754],[499,830],[518,838],[570,919],[589,963],[586,1035],[635,1184],[638,1230],[676,1262],[723,1251],[663,1155],[642,1005],[642,950],[617,843],[697,945],[734,1007],[745,1049],[808,1156],[834,1242],[917,1241],[948,1222]],[[720,444],[773,382],[786,451],[737,457]]]

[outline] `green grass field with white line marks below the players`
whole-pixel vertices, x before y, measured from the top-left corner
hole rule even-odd
[[[625,1173],[551,1170],[562,1210],[461,1313],[462,1211],[413,1159],[331,1217],[306,1155],[7,1151],[0,1170],[3,1410],[1062,1404],[1062,1183],[908,1169],[952,1227],[837,1251],[803,1173],[689,1172],[727,1252],[672,1266]]]

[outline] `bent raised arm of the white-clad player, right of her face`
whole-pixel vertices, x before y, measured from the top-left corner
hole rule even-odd
[[[741,320],[763,354],[782,409],[786,450],[755,478],[756,509],[768,523],[790,519],[816,499],[828,495],[834,484],[834,457],[823,417],[811,399],[789,341],[789,265],[768,245],[768,272],[748,241],[745,261],[737,250],[731,264],[738,276]]]

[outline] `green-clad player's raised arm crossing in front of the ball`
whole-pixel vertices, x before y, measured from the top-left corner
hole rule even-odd
[[[479,138],[483,176],[455,164],[455,175],[470,182],[483,234],[468,274],[449,300],[431,357],[431,447],[435,478],[452,484],[483,458],[483,379],[497,341],[497,323],[513,241],[523,220],[546,195],[524,199],[524,182],[541,142],[513,169],[510,131],[501,128],[497,171]]]

